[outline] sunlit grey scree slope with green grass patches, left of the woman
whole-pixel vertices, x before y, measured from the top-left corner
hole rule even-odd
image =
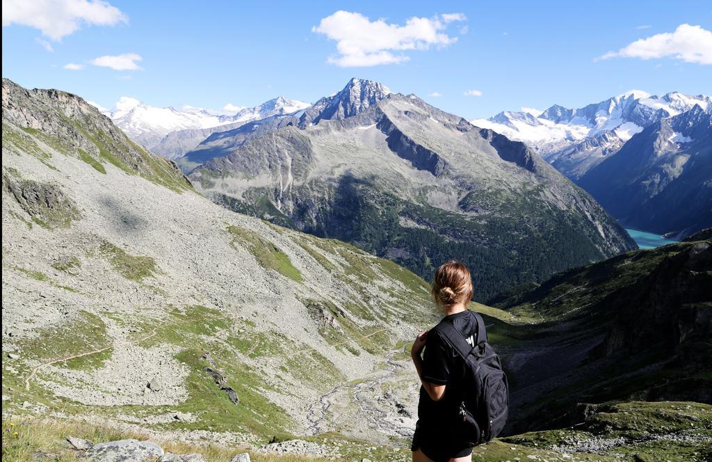
[[[412,272],[212,204],[76,96],[2,91],[4,414],[258,445],[436,319]]]

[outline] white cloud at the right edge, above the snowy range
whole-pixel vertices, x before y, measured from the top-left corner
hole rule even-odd
[[[653,59],[672,56],[687,63],[712,64],[712,31],[700,26],[681,24],[674,32],[655,34],[621,48],[609,51],[598,59]]]

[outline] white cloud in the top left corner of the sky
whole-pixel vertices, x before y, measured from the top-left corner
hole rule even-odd
[[[103,0],[3,0],[2,25],[19,24],[59,41],[82,24],[113,26],[128,18]]]

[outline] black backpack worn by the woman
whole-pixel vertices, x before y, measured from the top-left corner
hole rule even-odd
[[[487,342],[485,322],[471,312],[477,322],[477,341],[471,346],[449,322],[436,329],[464,359],[464,379],[459,419],[465,424],[465,437],[473,446],[490,441],[504,428],[509,411],[509,387],[502,362]]]

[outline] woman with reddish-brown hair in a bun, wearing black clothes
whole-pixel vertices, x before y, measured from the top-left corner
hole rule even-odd
[[[435,272],[431,292],[445,314],[441,322],[453,324],[468,343],[476,344],[477,322],[467,309],[472,299],[472,279],[467,267],[456,261],[441,265]],[[458,419],[462,396],[458,387],[464,359],[438,330],[431,330],[430,334],[421,332],[413,343],[411,356],[422,382],[411,447],[413,461],[471,461],[472,446],[466,441],[462,419]]]

